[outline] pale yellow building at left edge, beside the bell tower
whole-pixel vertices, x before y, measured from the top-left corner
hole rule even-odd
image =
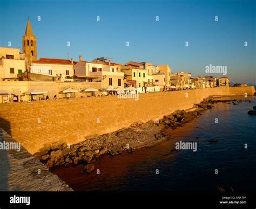
[[[18,80],[17,74],[26,71],[24,54],[19,48],[0,47],[0,79]]]

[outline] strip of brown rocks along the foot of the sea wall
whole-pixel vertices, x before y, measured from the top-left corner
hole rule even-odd
[[[211,109],[217,102],[240,102],[240,100],[204,100],[196,104],[196,110],[186,112],[176,110],[170,115],[164,116],[161,120],[148,121],[146,123],[136,122],[128,128],[120,129],[109,134],[92,136],[78,144],[69,145],[65,142],[45,144],[35,156],[52,169],[56,166],[70,166],[83,164],[81,173],[91,173],[96,161],[101,162],[102,155],[119,155],[127,151],[132,154],[134,149],[150,147],[154,144],[168,140],[165,130],[176,129],[184,126],[201,115],[202,110]]]

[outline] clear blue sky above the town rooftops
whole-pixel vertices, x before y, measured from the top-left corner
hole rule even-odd
[[[22,49],[29,16],[37,37],[38,59],[65,59],[68,53],[75,60],[81,54],[86,61],[112,57],[121,64],[131,60],[168,64],[173,72],[188,71],[193,76],[207,75],[207,65],[225,65],[231,82],[256,85],[255,1],[0,3],[0,46],[8,47],[11,41],[11,47]]]

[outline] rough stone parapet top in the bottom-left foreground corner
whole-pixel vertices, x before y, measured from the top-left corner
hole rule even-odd
[[[1,128],[0,143],[6,148],[0,150],[0,191],[73,191],[23,147],[8,148],[17,141]]]

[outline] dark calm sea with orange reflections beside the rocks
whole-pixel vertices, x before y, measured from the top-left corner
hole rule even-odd
[[[216,104],[199,119],[170,130],[171,140],[154,147],[132,155],[104,156],[101,164],[95,164],[100,174],[81,175],[82,165],[53,172],[77,191],[215,191],[227,184],[234,191],[255,191],[256,116],[247,112],[256,106],[256,99],[247,99],[253,102]],[[211,138],[218,142],[208,142]],[[197,151],[175,150],[178,141],[197,142]]]

